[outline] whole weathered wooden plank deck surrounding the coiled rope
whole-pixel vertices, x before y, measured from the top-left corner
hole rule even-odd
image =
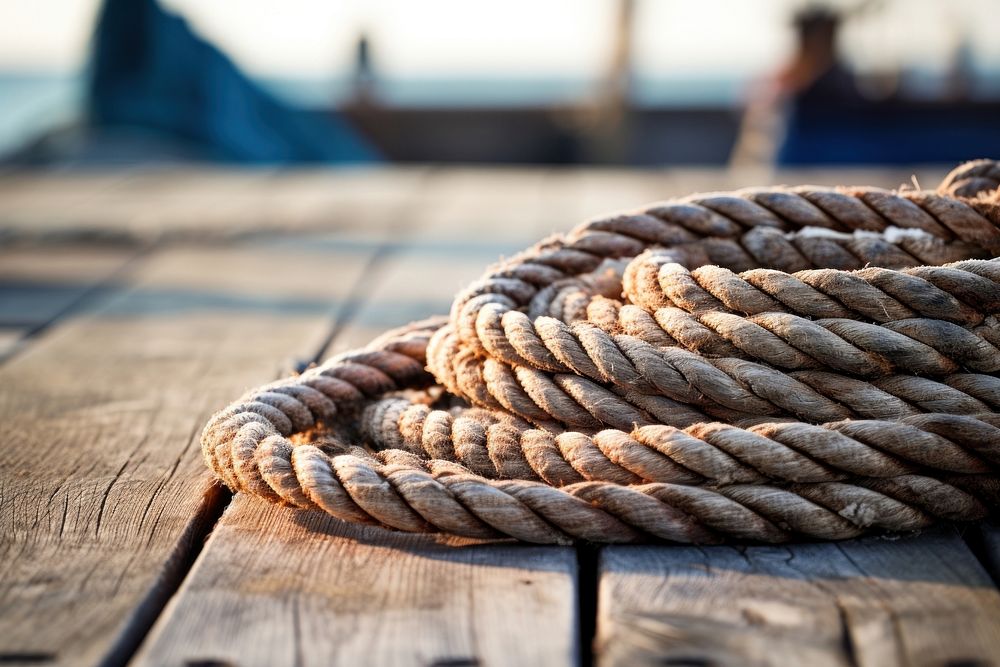
[[[498,255],[590,215],[904,181],[0,174],[0,664],[1000,664],[996,522],[788,547],[479,544],[233,497],[197,442],[244,390],[446,312]]]

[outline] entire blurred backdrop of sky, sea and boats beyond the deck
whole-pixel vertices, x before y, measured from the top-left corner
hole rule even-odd
[[[7,0],[3,19],[8,165],[1000,154],[996,0]]]

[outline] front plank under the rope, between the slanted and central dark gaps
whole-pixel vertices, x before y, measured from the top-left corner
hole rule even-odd
[[[136,665],[569,665],[573,552],[444,543],[237,495]]]

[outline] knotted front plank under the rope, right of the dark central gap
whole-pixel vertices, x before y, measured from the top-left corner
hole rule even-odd
[[[988,665],[1000,592],[952,529],[787,547],[609,547],[601,665]]]

